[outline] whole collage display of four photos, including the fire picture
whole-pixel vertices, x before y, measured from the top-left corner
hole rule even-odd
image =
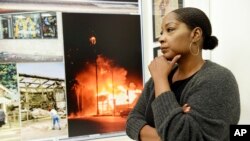
[[[1,140],[125,131],[143,88],[139,14],[2,11]]]

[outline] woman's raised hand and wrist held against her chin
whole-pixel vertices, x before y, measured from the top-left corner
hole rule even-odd
[[[172,61],[168,61],[164,56],[156,57],[148,66],[151,77],[155,84],[155,96],[159,96],[165,91],[170,91],[168,75],[181,55],[176,55]]]

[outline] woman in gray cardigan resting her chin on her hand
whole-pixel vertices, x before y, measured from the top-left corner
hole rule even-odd
[[[162,56],[130,112],[126,132],[141,141],[228,141],[240,116],[239,90],[230,70],[202,58],[218,45],[208,17],[197,8],[170,12],[159,38]]]

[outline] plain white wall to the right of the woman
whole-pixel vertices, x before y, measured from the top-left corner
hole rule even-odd
[[[219,46],[212,60],[229,68],[235,75],[241,98],[240,124],[250,123],[250,1],[211,0],[210,16]]]

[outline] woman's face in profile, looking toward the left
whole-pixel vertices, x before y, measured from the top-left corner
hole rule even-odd
[[[162,21],[162,32],[159,38],[161,51],[168,60],[175,55],[189,54],[191,30],[183,22],[176,19],[175,13],[169,13]]]

